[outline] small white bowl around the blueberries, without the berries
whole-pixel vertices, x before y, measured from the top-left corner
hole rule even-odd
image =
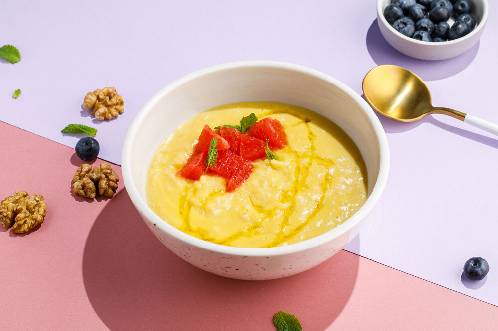
[[[468,35],[450,41],[427,42],[409,38],[396,31],[384,17],[384,9],[390,0],[377,0],[377,21],[380,32],[385,40],[408,56],[421,60],[444,60],[453,58],[468,51],[483,34],[488,19],[487,0],[469,0],[472,5],[472,15],[476,18],[476,27]],[[450,18],[450,26],[453,24]]]

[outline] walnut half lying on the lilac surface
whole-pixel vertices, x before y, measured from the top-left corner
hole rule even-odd
[[[92,110],[91,115],[99,120],[113,119],[124,112],[124,101],[114,87],[104,87],[88,92],[83,100],[83,108]]]

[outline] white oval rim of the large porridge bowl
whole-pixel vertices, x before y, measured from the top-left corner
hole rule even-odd
[[[271,248],[240,248],[240,247],[230,247],[220,244],[214,244],[202,239],[188,235],[175,227],[168,224],[166,221],[162,220],[157,214],[155,214],[152,209],[149,208],[147,202],[141,198],[138,190],[135,187],[135,183],[132,177],[132,169],[130,167],[131,162],[131,146],[133,137],[138,131],[140,124],[144,118],[148,115],[148,112],[154,107],[156,101],[162,98],[167,93],[171,92],[178,86],[188,83],[189,81],[196,79],[200,76],[207,75],[216,71],[224,71],[228,69],[236,68],[276,68],[285,69],[289,71],[296,71],[299,73],[304,73],[310,76],[314,76],[330,84],[335,85],[341,89],[345,94],[351,97],[365,112],[368,119],[370,120],[373,130],[375,132],[376,138],[378,140],[379,151],[380,151],[380,166],[378,178],[373,186],[373,190],[367,201],[363,206],[353,214],[349,219],[335,227],[328,232],[316,236],[314,238],[290,244],[286,246],[271,247]],[[389,146],[387,143],[387,137],[385,131],[373,112],[372,108],[367,104],[367,102],[360,97],[355,91],[350,87],[346,86],[344,83],[314,69],[310,69],[304,66],[295,65],[291,63],[278,62],[278,61],[239,61],[231,62],[226,64],[215,65],[206,69],[196,71],[194,73],[188,74],[173,83],[170,83],[166,87],[162,88],[157,92],[138,112],[133,122],[131,123],[126,137],[124,139],[123,151],[122,151],[122,174],[123,181],[128,192],[131,201],[135,205],[136,209],[142,214],[147,222],[154,224],[161,231],[167,233],[168,235],[181,240],[182,242],[192,245],[193,247],[202,248],[208,251],[218,252],[222,254],[229,254],[234,256],[278,256],[286,255],[289,253],[295,253],[300,251],[305,251],[311,248],[318,247],[324,243],[327,243],[335,238],[344,235],[346,232],[350,231],[353,227],[358,225],[372,210],[375,203],[380,198],[380,195],[385,187],[387,181],[387,175],[389,172]],[[350,238],[351,239],[351,238]]]

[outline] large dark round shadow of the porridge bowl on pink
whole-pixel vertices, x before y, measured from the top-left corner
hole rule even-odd
[[[213,275],[164,247],[121,190],[90,230],[82,271],[88,299],[111,330],[274,330],[273,314],[285,310],[301,317],[305,330],[321,331],[348,302],[358,264],[359,256],[341,250],[282,279]]]

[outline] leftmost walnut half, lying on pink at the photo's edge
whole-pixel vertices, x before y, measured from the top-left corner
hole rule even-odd
[[[13,233],[26,233],[43,223],[47,215],[47,204],[43,196],[29,196],[26,191],[15,192],[0,204],[0,222]],[[13,225],[12,225],[13,223]]]

